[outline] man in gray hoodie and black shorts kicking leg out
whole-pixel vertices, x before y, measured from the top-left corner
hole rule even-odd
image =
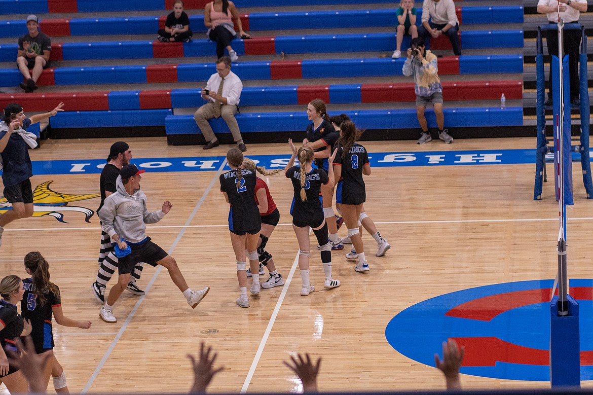
[[[107,323],[116,323],[113,316],[113,305],[130,282],[130,273],[138,262],[149,265],[162,265],[167,268],[171,280],[183,292],[187,303],[196,308],[197,304],[208,294],[210,288],[193,291],[187,286],[177,262],[165,250],[152,243],[146,236],[146,225],[154,224],[164,218],[173,205],[168,200],[162,203],[159,211],[146,209],[146,195],[140,189],[140,180],[145,170],[138,170],[134,164],[122,167],[117,177],[117,192],[107,196],[103,208],[99,211],[99,218],[103,231],[109,234],[120,249],[129,246],[132,250],[127,256],[119,258],[119,278],[117,284],[110,291],[105,305],[101,307],[99,317]]]

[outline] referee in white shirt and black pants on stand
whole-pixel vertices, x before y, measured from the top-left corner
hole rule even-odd
[[[581,12],[587,11],[587,0],[539,0],[537,12],[546,14],[550,23],[558,22],[560,18],[565,23],[578,23]],[[552,105],[552,68],[551,56],[558,56],[558,31],[546,30],[546,43],[550,55],[550,91],[546,106]],[[564,53],[568,55],[570,74],[570,104],[579,106],[579,46],[581,45],[581,30],[564,30]]]

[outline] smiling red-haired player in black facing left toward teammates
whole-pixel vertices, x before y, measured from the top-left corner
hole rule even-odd
[[[318,168],[328,170],[327,158],[333,151],[333,146],[340,137],[333,125],[331,125],[330,117],[327,115],[326,103],[321,99],[315,99],[307,106],[307,116],[309,120],[313,121],[311,125],[307,126],[307,139],[303,141],[303,145],[310,146],[315,152],[315,165]],[[327,221],[327,230],[329,240],[331,241],[331,250],[338,251],[344,249],[344,244],[337,234],[339,225],[342,225],[342,218],[336,216],[331,207],[333,205],[334,190],[322,189],[323,195],[323,214]],[[335,220],[334,220],[335,218]]]

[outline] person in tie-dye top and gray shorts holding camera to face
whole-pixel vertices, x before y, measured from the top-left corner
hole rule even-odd
[[[416,115],[422,129],[418,144],[425,144],[432,140],[428,130],[424,112],[426,104],[432,101],[436,115],[436,125],[439,128],[439,139],[447,144],[453,141],[447,129],[444,129],[445,117],[443,115],[443,87],[438,76],[436,55],[425,50],[424,40],[416,37],[410,42],[407,58],[403,66],[406,77],[414,76],[414,91],[416,93]]]

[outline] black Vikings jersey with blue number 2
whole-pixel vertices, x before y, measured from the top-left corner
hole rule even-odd
[[[226,192],[231,208],[228,212],[228,228],[231,231],[250,231],[262,226],[255,199],[256,174],[243,169],[243,179],[237,187],[237,170],[227,171],[220,176],[221,192]]]

